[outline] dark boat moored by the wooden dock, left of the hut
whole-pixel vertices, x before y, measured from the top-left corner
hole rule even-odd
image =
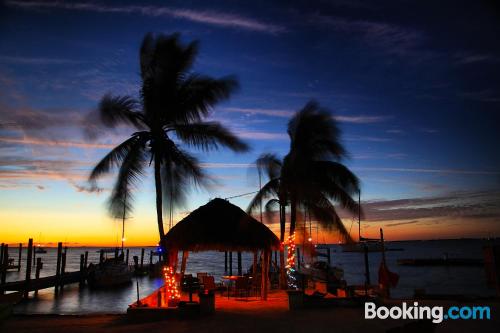
[[[132,281],[132,272],[121,255],[118,258],[105,259],[97,265],[90,264],[87,281],[93,288],[122,286]]]

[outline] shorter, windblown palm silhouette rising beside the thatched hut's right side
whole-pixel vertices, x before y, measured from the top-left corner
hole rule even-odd
[[[295,231],[299,207],[313,216],[323,227],[336,229],[350,241],[349,232],[337,215],[338,203],[351,212],[358,211],[352,196],[359,192],[358,178],[341,161],[347,153],[340,143],[340,130],[331,114],[315,102],[309,102],[288,123],[290,150],[280,160],[263,154],[256,161],[266,173],[262,186],[248,206],[251,212],[263,200],[266,211],[279,206],[280,240],[284,240],[286,206],[290,206],[290,235]]]

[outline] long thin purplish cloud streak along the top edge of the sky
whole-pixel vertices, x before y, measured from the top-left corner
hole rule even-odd
[[[285,27],[280,25],[212,10],[191,10],[160,6],[107,6],[95,3],[59,1],[6,1],[5,4],[11,7],[20,7],[24,9],[54,8],[98,13],[141,14],[150,17],[171,17],[212,26],[237,28],[269,34],[279,34],[286,31]]]

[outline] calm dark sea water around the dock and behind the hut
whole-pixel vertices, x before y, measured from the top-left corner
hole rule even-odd
[[[425,289],[428,293],[465,294],[477,296],[494,295],[494,290],[486,286],[486,277],[482,267],[409,267],[398,266],[399,258],[441,258],[445,253],[450,258],[482,258],[482,240],[449,240],[449,241],[409,241],[387,243],[388,247],[403,248],[404,251],[387,252],[389,268],[400,274],[397,288],[391,291],[395,298],[411,297],[416,288]],[[332,264],[344,269],[348,284],[364,283],[364,261],[362,253],[342,253],[340,247],[332,245]],[[145,263],[149,261],[149,248],[146,250]],[[95,248],[69,248],[66,271],[79,269],[80,254],[89,251],[89,262],[97,262],[99,253]],[[23,262],[26,259],[23,255]],[[139,248],[130,249],[130,261],[133,255],[140,256]],[[56,249],[47,249],[46,254],[39,254],[44,263],[41,276],[53,275],[56,266]],[[11,249],[11,257],[17,257],[15,249]],[[251,254],[243,254],[243,269],[252,263]],[[377,282],[378,265],[381,254],[370,253],[370,276],[372,283]],[[233,272],[236,271],[236,255],[233,255]],[[24,279],[24,268],[20,273],[10,272],[8,281]],[[187,272],[209,272],[216,279],[224,275],[224,253],[201,252],[192,253],[187,264]],[[148,295],[161,286],[161,279],[141,277],[137,280],[141,297]],[[127,305],[136,300],[134,283],[120,289],[91,290],[79,289],[77,284],[64,288],[64,292],[55,298],[53,288],[41,290],[38,299],[30,299],[18,304],[17,313],[122,313]]]

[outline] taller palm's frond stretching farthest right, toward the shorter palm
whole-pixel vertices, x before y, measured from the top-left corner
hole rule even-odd
[[[205,151],[218,149],[219,146],[224,146],[237,152],[249,149],[246,143],[216,122],[175,124],[173,125],[173,130],[188,145],[201,148]]]

